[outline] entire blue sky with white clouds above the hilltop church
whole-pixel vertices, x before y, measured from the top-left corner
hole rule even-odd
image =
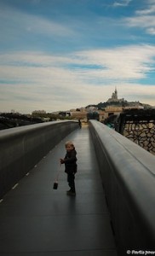
[[[0,0],[0,112],[155,106],[155,0]]]

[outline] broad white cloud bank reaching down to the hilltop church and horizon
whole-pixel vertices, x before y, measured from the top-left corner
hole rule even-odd
[[[14,52],[0,55],[1,111],[55,111],[105,102],[115,86],[120,97],[152,104],[155,84],[149,78],[155,46],[132,45],[80,51],[70,55]],[[137,81],[137,82],[136,82]],[[152,99],[152,96],[154,97]],[[155,103],[153,103],[155,105]]]

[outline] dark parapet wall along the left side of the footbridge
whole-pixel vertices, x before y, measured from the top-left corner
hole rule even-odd
[[[0,199],[78,122],[58,121],[0,131]]]

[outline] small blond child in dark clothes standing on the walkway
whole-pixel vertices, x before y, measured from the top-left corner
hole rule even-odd
[[[72,142],[66,142],[66,156],[60,159],[60,164],[65,164],[65,172],[67,173],[67,182],[70,190],[66,191],[67,195],[76,195],[75,190],[75,173],[77,172],[77,151]]]

